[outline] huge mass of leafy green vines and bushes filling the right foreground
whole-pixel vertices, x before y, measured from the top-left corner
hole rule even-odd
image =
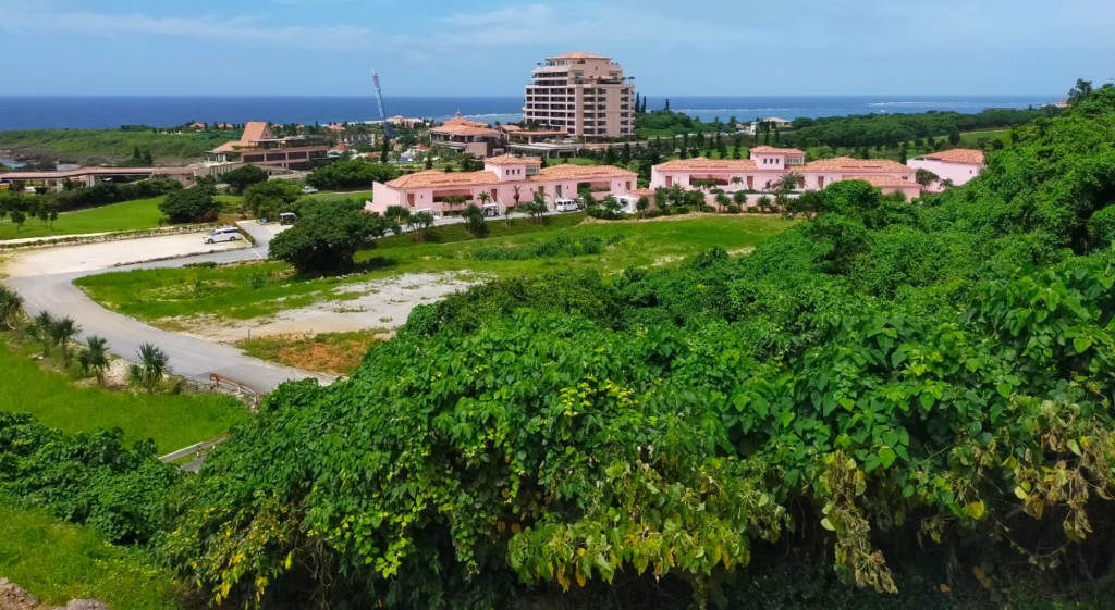
[[[779,539],[881,592],[918,540],[985,575],[1104,575],[1115,252],[1086,228],[1113,119],[1097,91],[923,206],[838,183],[749,256],[416,309],[351,381],[273,394],[166,550],[217,601],[263,604],[658,579],[738,601],[730,574]]]

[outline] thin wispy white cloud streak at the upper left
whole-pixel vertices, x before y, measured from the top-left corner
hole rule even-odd
[[[35,33],[84,33],[116,37],[126,35],[205,38],[230,43],[248,43],[306,49],[351,50],[368,48],[371,32],[356,26],[268,27],[252,17],[151,17],[142,13],[41,12],[0,6],[0,30]]]

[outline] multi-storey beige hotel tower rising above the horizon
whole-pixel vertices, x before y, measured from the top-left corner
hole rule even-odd
[[[607,57],[566,53],[546,59],[526,86],[523,120],[565,137],[599,140],[634,134],[634,79]]]

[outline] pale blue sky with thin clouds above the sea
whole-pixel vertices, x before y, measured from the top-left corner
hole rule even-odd
[[[1113,0],[0,0],[6,95],[517,96],[612,57],[651,96],[1061,94]]]

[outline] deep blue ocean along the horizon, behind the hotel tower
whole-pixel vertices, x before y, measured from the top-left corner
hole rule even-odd
[[[731,117],[831,117],[986,108],[1027,108],[1064,96],[734,96],[670,98],[673,110],[710,121]],[[444,120],[456,112],[487,122],[522,119],[522,97],[388,97],[388,116]],[[662,108],[651,96],[648,109]],[[110,129],[122,125],[171,127],[187,121],[360,122],[379,118],[372,97],[0,97],[0,131]]]

